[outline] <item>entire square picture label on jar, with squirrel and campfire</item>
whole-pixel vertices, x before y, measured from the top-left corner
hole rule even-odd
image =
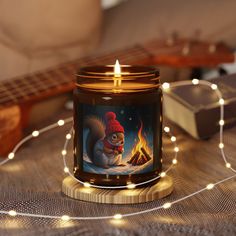
[[[84,172],[128,175],[143,174],[160,167],[160,160],[155,160],[158,157],[153,158],[153,153],[160,155],[161,152],[153,150],[156,143],[153,133],[160,127],[156,104],[79,104],[79,110],[83,117],[81,166]]]

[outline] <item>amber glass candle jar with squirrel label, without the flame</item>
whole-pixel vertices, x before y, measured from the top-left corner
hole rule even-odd
[[[162,170],[159,71],[150,66],[120,70],[90,66],[77,74],[74,175],[91,184],[137,184]]]

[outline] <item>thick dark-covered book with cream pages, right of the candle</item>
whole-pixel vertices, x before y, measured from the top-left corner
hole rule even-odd
[[[236,74],[209,82],[218,86],[225,101],[224,128],[236,124]],[[165,116],[197,139],[219,131],[220,104],[216,92],[206,85],[183,85],[164,93]]]

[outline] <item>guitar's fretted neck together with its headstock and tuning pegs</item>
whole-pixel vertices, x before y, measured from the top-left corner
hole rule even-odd
[[[158,64],[175,67],[217,66],[234,61],[224,44],[194,40],[155,40],[103,56],[90,56],[65,63],[44,72],[0,82],[0,107],[39,101],[74,88],[77,67],[96,64]]]

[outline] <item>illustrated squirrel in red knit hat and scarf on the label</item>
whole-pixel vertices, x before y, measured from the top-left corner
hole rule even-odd
[[[105,124],[97,117],[86,117],[84,125],[89,129],[86,152],[91,162],[102,168],[125,166],[121,163],[124,152],[124,128],[116,120],[114,112],[105,114]]]

